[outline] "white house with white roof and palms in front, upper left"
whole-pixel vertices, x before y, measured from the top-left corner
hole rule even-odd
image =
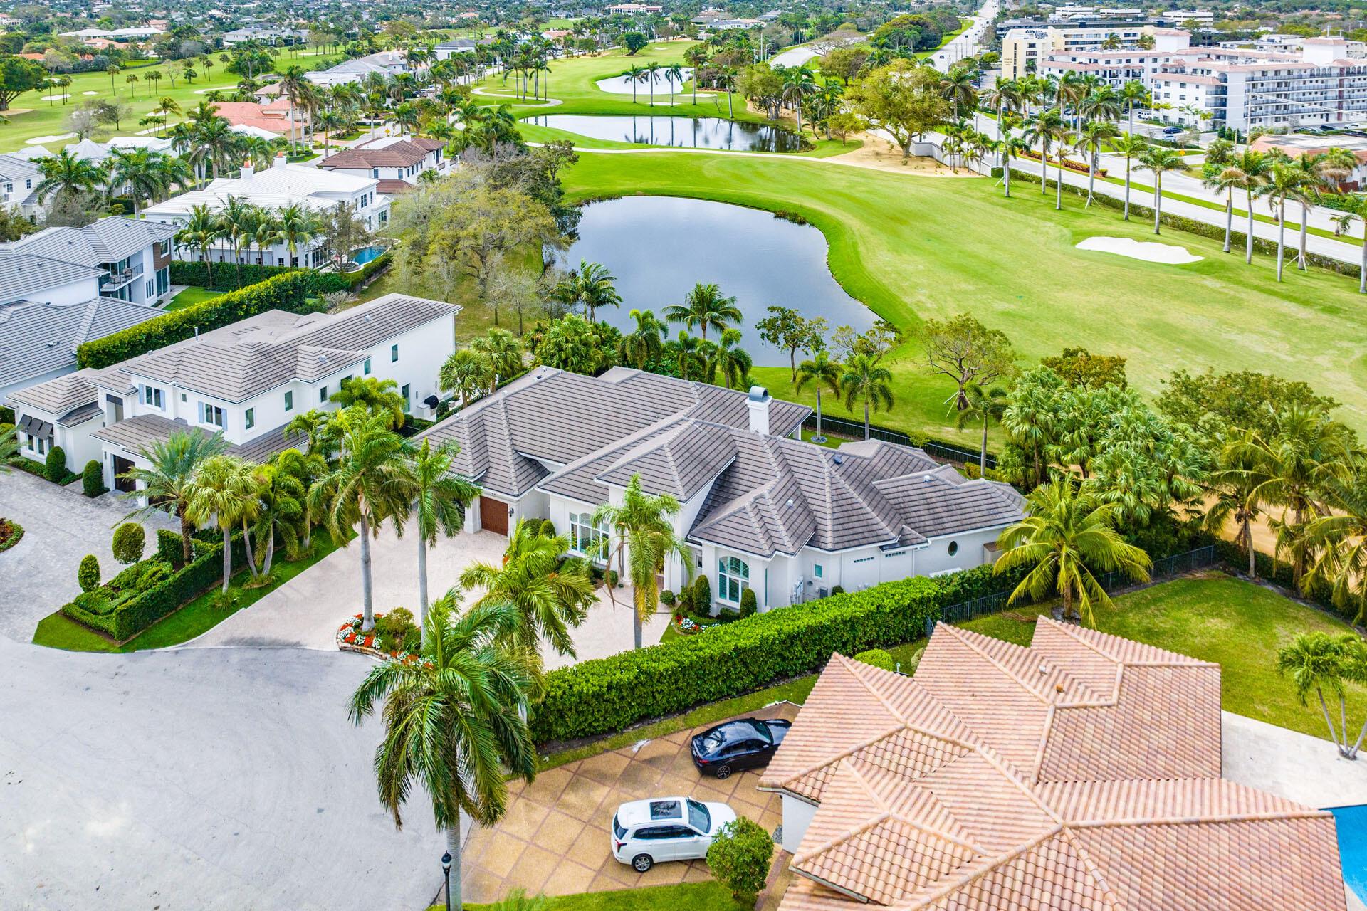
[[[355,176],[339,171],[321,171],[313,167],[286,164],[284,156],[262,171],[243,165],[238,178],[219,178],[209,182],[204,190],[182,193],[164,202],[148,206],[142,217],[149,221],[185,227],[190,212],[197,205],[208,205],[213,210],[223,209],[228,197],[279,212],[290,205],[302,205],[320,214],[327,214],[340,205],[350,206],[365,227],[377,231],[390,221],[388,195],[380,193],[379,180],[369,176]],[[268,266],[320,266],[327,262],[325,240],[314,238],[291,251],[286,242],[261,250],[243,244],[234,251],[227,239],[209,247],[212,262],[242,262]],[[342,251],[350,253],[349,250]],[[198,247],[178,247],[178,260],[202,260]]]

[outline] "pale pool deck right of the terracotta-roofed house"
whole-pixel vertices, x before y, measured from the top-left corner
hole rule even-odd
[[[1225,777],[1311,807],[1367,803],[1367,753],[1344,759],[1329,740],[1222,713]],[[1346,889],[1348,911],[1367,904]]]

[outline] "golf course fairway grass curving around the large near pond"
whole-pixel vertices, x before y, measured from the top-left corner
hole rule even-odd
[[[1054,212],[1053,195],[1023,184],[1012,199],[988,179],[917,178],[772,156],[593,154],[565,173],[574,197],[663,194],[786,209],[820,228],[835,279],[879,316],[913,332],[927,317],[972,311],[1016,343],[1023,362],[1065,346],[1129,358],[1131,381],[1154,395],[1172,370],[1266,370],[1305,380],[1345,403],[1341,417],[1367,429],[1367,309],[1353,279],[1288,270],[1277,284],[1270,257],[1245,266],[1218,240],[1165,229],[1158,240],[1204,257],[1185,266],[1077,250],[1089,236],[1154,240],[1147,223],[1077,198]],[[697,258],[707,281],[707,257]],[[725,291],[725,288],[723,288]],[[833,317],[838,322],[838,317]],[[753,329],[745,328],[750,333]],[[915,341],[890,356],[891,412],[875,423],[957,438]],[[786,367],[755,370],[779,397],[796,395]],[[863,421],[824,397],[834,417]],[[999,432],[992,429],[994,440]]]

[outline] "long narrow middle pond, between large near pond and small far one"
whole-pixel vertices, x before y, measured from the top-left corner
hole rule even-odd
[[[684,149],[733,149],[740,152],[800,152],[796,132],[763,123],[738,123],[726,117],[627,116],[601,113],[547,113],[524,123],[577,132],[591,139],[638,142]]]

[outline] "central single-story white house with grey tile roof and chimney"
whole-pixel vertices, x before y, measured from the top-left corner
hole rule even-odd
[[[811,410],[614,367],[586,377],[540,367],[424,432],[454,441],[457,471],[483,486],[468,530],[507,534],[551,519],[576,553],[601,560],[592,512],[633,475],[681,504],[663,585],[699,574],[718,606],[755,591],[760,611],[913,575],[976,567],[1023,516],[1009,485],[969,481],[920,449],[882,441],[802,443]]]

